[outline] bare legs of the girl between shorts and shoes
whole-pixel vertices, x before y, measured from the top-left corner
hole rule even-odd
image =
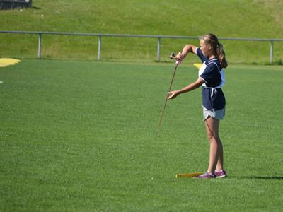
[[[209,166],[207,172],[214,173],[214,171],[223,169],[223,146],[219,138],[219,124],[218,119],[208,117],[205,120],[205,127],[207,129],[207,138],[209,139]]]

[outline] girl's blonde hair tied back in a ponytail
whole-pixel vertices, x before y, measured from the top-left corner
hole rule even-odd
[[[223,45],[221,45],[221,43],[218,41],[218,38],[213,34],[207,34],[202,35],[202,37],[200,37],[200,40],[203,40],[206,44],[212,45],[221,66],[223,68],[226,68],[228,66],[228,63],[226,61]]]

